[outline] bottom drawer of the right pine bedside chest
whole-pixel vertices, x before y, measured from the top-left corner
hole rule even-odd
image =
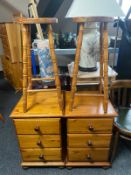
[[[104,162],[109,161],[108,148],[69,148],[69,161],[83,161],[83,162]]]

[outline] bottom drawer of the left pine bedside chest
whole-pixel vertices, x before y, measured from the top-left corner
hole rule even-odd
[[[22,149],[23,161],[60,161],[62,160],[60,148]]]

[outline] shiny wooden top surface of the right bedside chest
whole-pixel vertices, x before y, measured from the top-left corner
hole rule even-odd
[[[70,92],[65,95],[66,117],[115,117],[117,113],[112,106],[111,102],[108,101],[108,111],[104,113],[103,109],[103,97],[101,96],[75,96],[74,108],[72,111],[69,110],[70,104]]]

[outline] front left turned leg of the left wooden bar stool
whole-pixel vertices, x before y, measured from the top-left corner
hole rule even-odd
[[[27,37],[28,26],[22,25],[22,48],[23,48],[23,111],[27,111],[27,79],[28,79],[28,60],[27,60]]]

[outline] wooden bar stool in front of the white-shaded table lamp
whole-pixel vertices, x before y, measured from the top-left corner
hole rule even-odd
[[[75,96],[102,96],[104,112],[107,113],[108,108],[108,31],[107,25],[113,21],[113,18],[109,17],[89,17],[89,18],[73,18],[74,22],[79,24],[79,33],[77,41],[77,49],[75,56],[75,64],[72,75],[72,87],[70,96],[70,111],[73,110]],[[84,32],[84,24],[86,22],[99,22],[100,23],[100,83],[99,91],[97,93],[76,93],[77,75],[80,60],[80,53],[82,47],[82,39]]]

